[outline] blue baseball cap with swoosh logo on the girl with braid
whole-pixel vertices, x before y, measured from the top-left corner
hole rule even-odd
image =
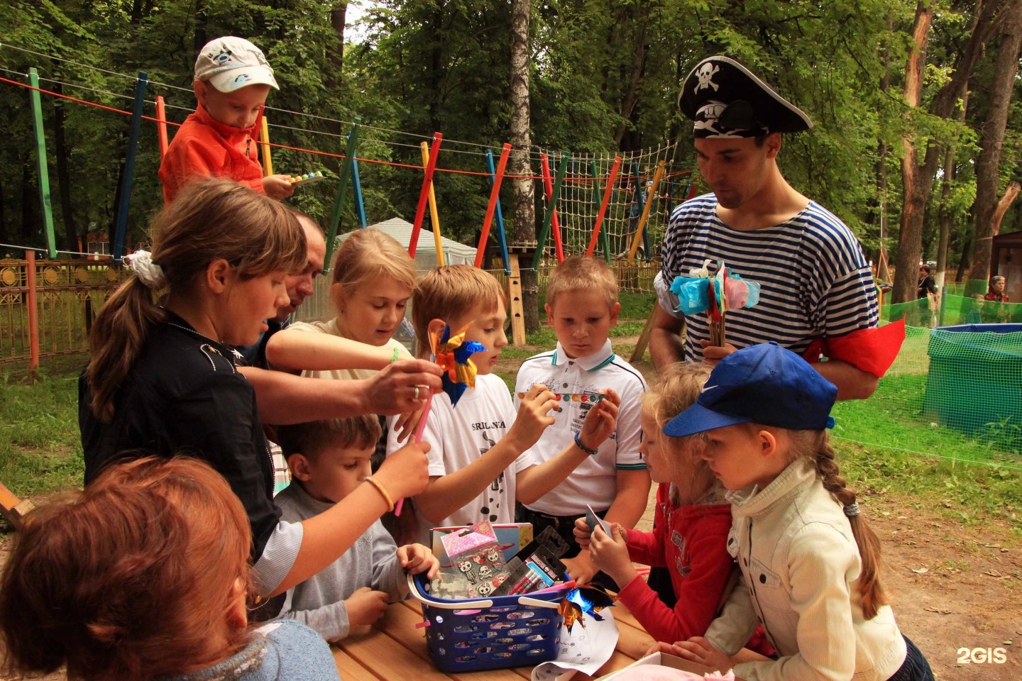
[[[837,387],[807,361],[777,343],[732,352],[710,373],[695,404],[663,427],[682,437],[754,423],[791,430],[823,430],[834,420]]]

